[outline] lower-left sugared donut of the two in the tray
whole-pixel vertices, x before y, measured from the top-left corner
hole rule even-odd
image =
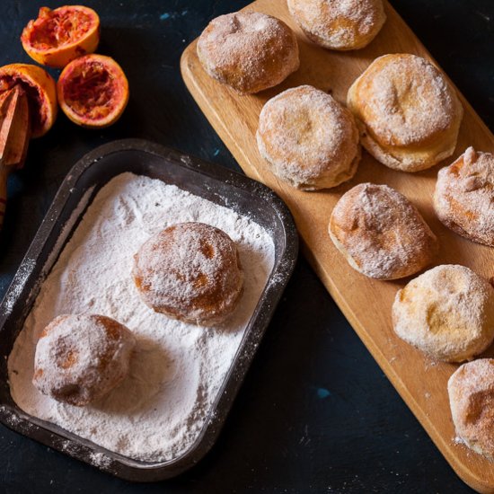
[[[40,334],[32,384],[57,401],[87,405],[124,379],[135,345],[132,332],[110,317],[59,315]]]

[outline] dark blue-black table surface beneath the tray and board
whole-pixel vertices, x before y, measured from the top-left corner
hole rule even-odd
[[[392,0],[494,130],[492,0]],[[49,6],[61,3],[47,2]],[[88,0],[99,52],[128,75],[130,101],[111,128],[63,114],[31,142],[9,182],[0,237],[0,295],[70,167],[113,139],[143,137],[238,170],[181,81],[182,50],[207,22],[245,0]],[[31,63],[19,36],[40,5],[0,4],[0,66]],[[57,76],[57,71],[51,71]],[[467,492],[300,259],[233,410],[203,461],[172,481],[132,484],[0,426],[0,492]]]

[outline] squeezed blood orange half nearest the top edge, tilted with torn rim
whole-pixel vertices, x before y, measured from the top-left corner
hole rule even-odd
[[[76,57],[93,53],[100,41],[100,18],[83,5],[55,10],[41,7],[38,19],[22,31],[22,47],[44,66],[62,68]]]

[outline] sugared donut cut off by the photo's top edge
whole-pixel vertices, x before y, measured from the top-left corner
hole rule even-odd
[[[361,49],[386,21],[382,0],[288,0],[305,36],[327,49]]]

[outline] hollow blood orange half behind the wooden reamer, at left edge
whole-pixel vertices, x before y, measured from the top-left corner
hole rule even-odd
[[[31,137],[44,136],[57,118],[57,88],[49,73],[40,66],[10,64],[0,67],[0,100],[2,94],[20,84],[28,97]]]

